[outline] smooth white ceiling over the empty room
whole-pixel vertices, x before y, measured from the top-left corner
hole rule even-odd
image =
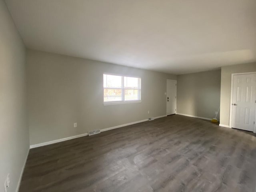
[[[186,74],[256,61],[256,0],[6,0],[27,48]]]

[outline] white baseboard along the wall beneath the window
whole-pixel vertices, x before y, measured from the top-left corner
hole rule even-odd
[[[166,116],[167,115],[158,116],[158,117],[155,117],[155,119],[166,117]],[[100,131],[104,132],[104,131],[108,131],[108,130],[112,130],[112,129],[117,129],[117,128],[120,128],[120,127],[125,127],[125,126],[128,126],[128,125],[142,123],[142,122],[145,122],[145,121],[148,121],[148,119],[143,119],[143,120],[140,120],[140,121],[135,121],[135,122],[126,123],[126,124],[122,124],[122,125],[118,125],[118,126],[114,126],[114,127],[109,127],[109,128],[101,129]],[[45,145],[50,145],[50,144],[54,144],[54,143],[58,143],[58,142],[62,142],[62,141],[67,141],[67,140],[71,140],[71,139],[76,139],[76,138],[84,137],[84,136],[88,136],[88,133],[75,135],[75,136],[71,136],[71,137],[66,137],[66,138],[62,138],[62,139],[57,139],[57,140],[53,140],[53,141],[48,141],[48,142],[44,142],[44,143],[30,145],[30,149],[45,146]]]

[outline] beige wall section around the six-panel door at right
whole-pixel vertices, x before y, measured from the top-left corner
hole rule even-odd
[[[225,66],[221,68],[220,124],[229,126],[231,74],[256,72],[256,63]]]

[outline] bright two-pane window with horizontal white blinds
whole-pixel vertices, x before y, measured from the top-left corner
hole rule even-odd
[[[103,74],[104,105],[140,102],[141,79]]]

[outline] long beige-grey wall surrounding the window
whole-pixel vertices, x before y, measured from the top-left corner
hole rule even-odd
[[[142,102],[104,106],[104,72],[140,76]],[[165,115],[166,80],[176,80],[175,75],[34,50],[28,50],[27,74],[30,145]]]

